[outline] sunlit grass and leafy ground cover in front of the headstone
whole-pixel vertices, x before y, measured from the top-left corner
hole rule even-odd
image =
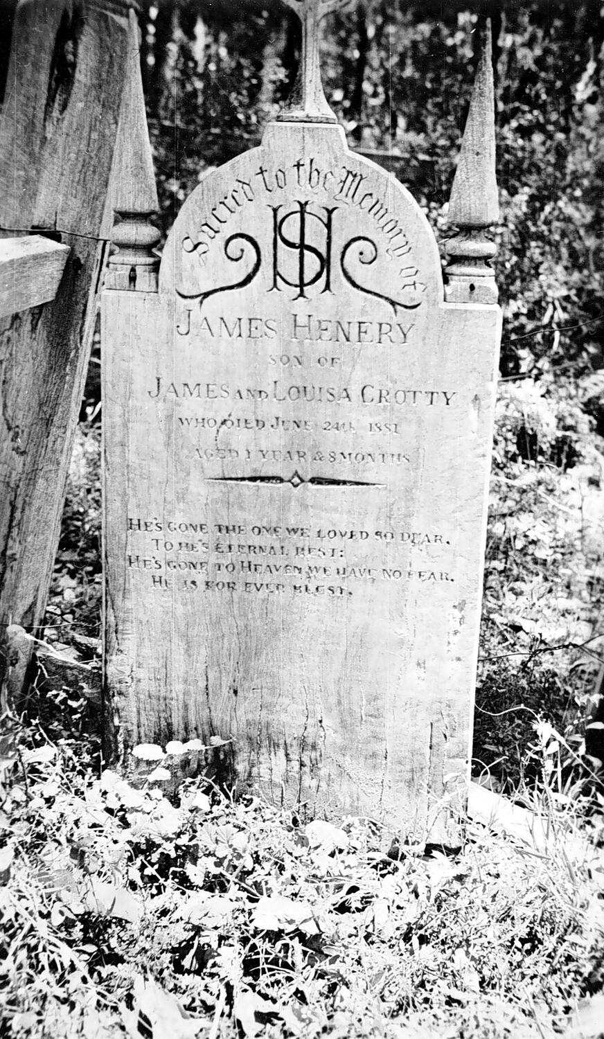
[[[600,992],[588,819],[575,860],[471,820],[426,854],[202,778],[170,800],[164,763],[135,790],[91,749],[29,724],[4,762],[7,1035],[549,1037]],[[577,810],[547,805],[560,836]]]

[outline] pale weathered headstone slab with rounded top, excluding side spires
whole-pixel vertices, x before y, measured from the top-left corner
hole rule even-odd
[[[158,291],[117,254],[104,293],[108,724],[121,753],[232,740],[273,799],[450,843],[500,311],[445,302],[306,42],[311,88],[185,202]]]

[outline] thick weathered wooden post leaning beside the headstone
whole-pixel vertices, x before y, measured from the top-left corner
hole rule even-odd
[[[0,677],[6,627],[40,624],[96,297],[128,47],[128,0],[17,8],[0,121],[0,237],[70,246],[53,302],[0,318]]]

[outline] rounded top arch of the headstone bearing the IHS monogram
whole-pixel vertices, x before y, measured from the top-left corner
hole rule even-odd
[[[181,315],[236,305],[242,290],[288,308],[346,292],[356,311],[385,304],[417,327],[443,301],[435,236],[411,193],[350,152],[341,127],[311,133],[309,146],[299,124],[269,124],[260,148],[209,172],[183,204],[159,276]]]

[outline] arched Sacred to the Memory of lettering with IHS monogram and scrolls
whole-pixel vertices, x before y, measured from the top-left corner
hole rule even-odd
[[[299,196],[285,204],[288,189],[303,189],[306,197]],[[182,251],[194,257],[200,268],[207,266],[212,249],[217,245],[233,217],[238,222],[245,218],[242,211],[251,204],[261,204],[266,198],[271,213],[271,260],[267,271],[267,291],[294,290],[292,299],[308,298],[310,289],[318,293],[334,292],[332,282],[334,243],[339,240],[338,257],[341,277],[357,291],[383,299],[397,310],[416,310],[424,301],[426,284],[420,276],[419,268],[412,262],[412,245],[404,229],[392,215],[383,196],[384,182],[375,181],[375,175],[362,174],[342,166],[339,174],[321,170],[314,157],[296,159],[291,165],[269,168],[260,164],[252,178],[237,178],[221,199],[209,212],[203,214],[194,233],[188,233],[181,240]],[[310,193],[310,196],[309,196]],[[324,195],[325,205],[313,197]],[[338,205],[330,205],[330,202]],[[361,222],[367,225],[364,235],[356,235],[342,240],[342,231],[337,228],[338,218],[346,216],[346,209],[356,207]],[[339,212],[340,211],[340,212]],[[340,220],[341,228],[346,221]],[[244,246],[253,250],[251,268],[237,281],[213,285],[199,292],[185,291],[177,286],[177,294],[183,300],[199,303],[200,310],[206,299],[216,293],[242,289],[250,285],[262,266],[262,251],[258,234],[247,227],[244,231],[231,234],[224,242],[224,254],[228,260],[239,263],[244,260]],[[356,275],[349,258],[354,257],[358,265],[373,265],[380,247],[374,235],[383,239],[384,260],[387,265],[397,265],[405,258],[403,266],[397,270],[399,294],[390,296],[380,292],[383,272],[376,271],[375,284],[367,284]],[[238,249],[234,246],[239,245]],[[389,277],[389,284],[392,276]],[[186,328],[185,328],[186,324]],[[180,335],[188,335],[190,314],[186,322],[179,322]]]

